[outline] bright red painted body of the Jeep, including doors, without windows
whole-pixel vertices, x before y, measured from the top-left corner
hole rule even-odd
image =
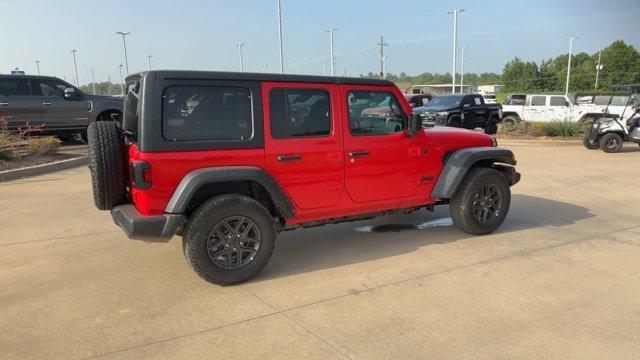
[[[271,136],[269,90],[277,87],[324,89],[331,97],[332,132],[326,137],[275,139]],[[128,147],[128,161],[150,164],[149,189],[130,184],[130,197],[144,215],[162,214],[180,181],[189,172],[218,166],[255,166],[270,174],[296,210],[287,224],[321,221],[435,201],[431,190],[450,151],[491,146],[484,134],[454,128],[427,128],[416,135],[353,136],[349,130],[350,90],[391,91],[406,114],[411,108],[395,86],[262,83],[264,149],[203,150],[145,153]],[[261,121],[261,119],[256,119]],[[352,151],[369,156],[352,158]],[[282,162],[278,156],[300,155]]]

